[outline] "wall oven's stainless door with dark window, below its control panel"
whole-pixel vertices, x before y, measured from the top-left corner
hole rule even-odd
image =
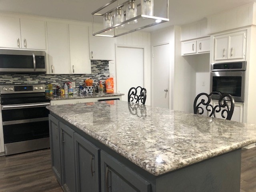
[[[211,72],[211,91],[227,93],[235,101],[244,102],[245,71],[219,71]],[[218,99],[212,95],[212,99]]]

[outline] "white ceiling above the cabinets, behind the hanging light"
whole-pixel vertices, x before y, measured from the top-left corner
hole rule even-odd
[[[110,0],[0,0],[0,11],[91,22],[91,13]],[[154,0],[156,3],[157,0]],[[169,0],[169,22],[149,30],[184,25],[256,0]]]

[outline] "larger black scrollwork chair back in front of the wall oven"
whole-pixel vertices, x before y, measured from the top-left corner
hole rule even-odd
[[[217,94],[220,96],[218,100],[218,105],[213,106],[211,104],[211,95]],[[202,98],[201,101],[197,104],[198,99]],[[207,99],[207,101],[205,100]],[[199,99],[200,100],[200,99]],[[228,102],[226,100],[230,100],[230,106],[228,105]],[[202,115],[204,113],[204,108],[202,106],[206,106],[206,110],[210,112],[209,117],[216,117],[216,113],[221,112],[222,118],[226,120],[230,120],[232,118],[234,107],[235,107],[235,101],[234,98],[230,94],[221,94],[220,92],[211,92],[210,94],[207,93],[200,93],[196,96],[194,100],[194,114],[200,114]],[[225,116],[225,114],[226,116]]]

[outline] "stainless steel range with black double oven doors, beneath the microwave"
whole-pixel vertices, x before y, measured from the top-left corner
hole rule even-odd
[[[0,93],[5,154],[49,148],[44,84],[2,85]]]

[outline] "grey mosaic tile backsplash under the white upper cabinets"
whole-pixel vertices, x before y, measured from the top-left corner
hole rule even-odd
[[[52,83],[55,86],[64,86],[65,82],[76,82],[76,90],[84,83],[86,78],[91,78],[94,83],[109,78],[108,61],[92,60],[91,61],[92,74],[38,74],[38,73],[0,73],[0,84],[46,84]]]

